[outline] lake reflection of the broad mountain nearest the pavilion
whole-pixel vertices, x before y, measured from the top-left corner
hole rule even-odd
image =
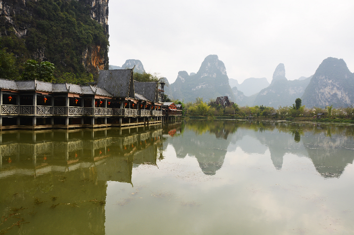
[[[194,121],[184,125],[183,134],[168,138],[179,158],[195,156],[204,174],[214,175],[223,166],[235,121]]]

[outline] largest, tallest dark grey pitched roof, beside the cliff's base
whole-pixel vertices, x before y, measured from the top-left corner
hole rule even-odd
[[[97,86],[113,97],[135,97],[132,69],[101,70]]]

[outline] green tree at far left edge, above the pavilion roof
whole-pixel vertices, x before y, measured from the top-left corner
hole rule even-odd
[[[18,70],[15,66],[15,56],[6,52],[6,48],[0,50],[0,76],[5,79],[18,78]]]

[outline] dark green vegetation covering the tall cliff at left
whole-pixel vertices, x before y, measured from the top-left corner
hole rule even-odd
[[[98,71],[94,58],[85,57],[87,50],[108,61],[109,46],[104,28],[90,11],[90,6],[75,0],[26,1],[26,10],[13,18],[14,25],[27,29],[26,35],[17,37],[14,28],[5,24],[5,16],[0,17],[0,47],[14,54],[20,73],[28,59],[35,59],[53,63],[56,77],[71,73],[90,79],[90,73],[97,76]]]

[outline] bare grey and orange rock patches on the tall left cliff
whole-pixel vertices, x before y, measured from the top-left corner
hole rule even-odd
[[[69,2],[70,0],[63,0]],[[102,25],[104,34],[108,34],[108,1],[109,0],[75,0],[83,5],[90,6],[90,16],[92,19]],[[8,36],[14,32],[18,38],[26,38],[29,29],[33,27],[33,21],[22,20],[21,17],[32,17],[33,8],[37,0],[0,0],[0,36]],[[20,19],[20,20],[19,20]],[[33,19],[36,22],[36,19]],[[47,60],[46,48],[38,48],[32,52],[34,59]],[[108,50],[101,48],[99,45],[87,45],[86,50],[82,51],[80,63],[85,69],[93,74],[97,74],[99,70],[108,69]],[[64,62],[63,62],[64,64]]]

